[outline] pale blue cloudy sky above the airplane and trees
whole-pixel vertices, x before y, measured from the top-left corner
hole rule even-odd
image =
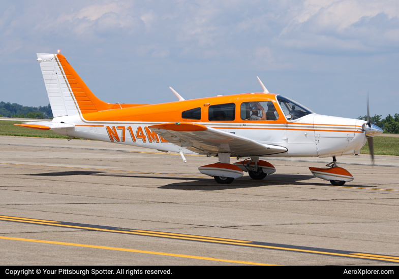
[[[45,106],[36,52],[60,49],[107,102],[261,92],[319,114],[399,113],[399,2],[0,2],[0,100]],[[114,93],[112,93],[114,92]]]

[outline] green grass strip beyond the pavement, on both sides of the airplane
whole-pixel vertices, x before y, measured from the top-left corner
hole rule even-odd
[[[0,120],[0,135],[68,138],[68,136],[54,133],[51,130],[35,130],[35,129],[28,129],[24,127],[14,126],[14,124],[21,124],[23,122],[24,121]],[[391,136],[374,137],[374,153],[376,155],[399,156],[399,137],[391,137]],[[369,145],[365,144],[361,149],[360,154],[370,154]]]

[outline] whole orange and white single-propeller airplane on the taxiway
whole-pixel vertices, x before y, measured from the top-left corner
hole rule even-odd
[[[367,121],[319,115],[301,104],[263,92],[160,104],[113,104],[97,98],[60,54],[37,53],[53,112],[52,122],[19,126],[73,137],[217,157],[201,173],[229,184],[248,172],[261,180],[275,168],[260,157],[332,157],[327,168],[309,167],[315,177],[344,185],[353,180],[336,156],[357,155],[382,129]],[[369,115],[367,101],[367,115]],[[244,160],[230,163],[230,158]]]

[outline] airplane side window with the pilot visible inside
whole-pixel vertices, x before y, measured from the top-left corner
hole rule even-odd
[[[279,119],[279,114],[271,101],[243,102],[241,103],[241,119],[274,121]]]

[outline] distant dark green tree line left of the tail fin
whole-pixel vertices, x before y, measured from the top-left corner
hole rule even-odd
[[[53,118],[50,104],[44,107],[26,107],[18,103],[0,102],[0,117],[15,118]]]

